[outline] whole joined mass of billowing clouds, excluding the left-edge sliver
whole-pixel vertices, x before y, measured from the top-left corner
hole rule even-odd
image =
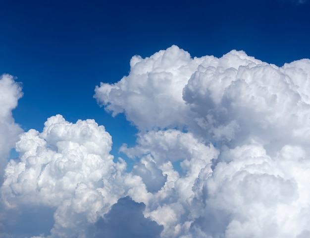
[[[95,98],[139,129],[136,145],[120,148],[132,171],[110,155],[102,125],[51,117],[20,135],[19,160],[5,168],[3,233],[13,234],[14,214],[42,207],[53,222],[26,236],[309,235],[310,60],[279,67],[172,46],[130,66]]]

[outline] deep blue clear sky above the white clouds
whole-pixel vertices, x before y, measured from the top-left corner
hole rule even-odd
[[[106,114],[94,89],[127,75],[134,55],[174,44],[192,57],[236,49],[279,66],[310,57],[310,4],[298,0],[1,0],[0,9],[0,74],[23,83],[15,121],[41,131],[55,114],[96,119],[116,150],[136,130]]]

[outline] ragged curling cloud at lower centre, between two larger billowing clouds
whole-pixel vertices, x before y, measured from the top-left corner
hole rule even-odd
[[[147,200],[141,199],[139,194],[130,195],[135,201],[147,205],[144,212],[146,217],[164,226],[162,237],[178,237],[189,229],[197,212],[193,209],[195,193],[192,187],[202,170],[211,173],[212,159],[217,158],[218,152],[193,134],[175,129],[150,131],[140,135],[137,142],[136,147],[123,146],[121,151],[130,157],[139,157],[137,167],[141,164],[146,164],[146,168],[149,164],[156,165],[165,176],[165,183],[159,190],[150,190],[150,178],[140,175],[151,194]],[[172,162],[180,162],[182,171],[177,172]],[[136,173],[135,169],[133,173]],[[162,182],[154,178],[152,184],[161,185]]]

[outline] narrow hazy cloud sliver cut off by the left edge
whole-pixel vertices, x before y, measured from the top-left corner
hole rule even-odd
[[[9,74],[0,76],[0,184],[3,182],[3,169],[7,164],[9,151],[14,147],[22,129],[14,123],[12,110],[22,97],[21,86]]]

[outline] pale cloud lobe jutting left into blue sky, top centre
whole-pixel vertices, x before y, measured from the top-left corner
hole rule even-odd
[[[134,56],[130,74],[115,84],[101,83],[95,98],[113,116],[124,112],[143,130],[185,124],[188,107],[180,92],[200,62],[177,46],[146,59]]]

